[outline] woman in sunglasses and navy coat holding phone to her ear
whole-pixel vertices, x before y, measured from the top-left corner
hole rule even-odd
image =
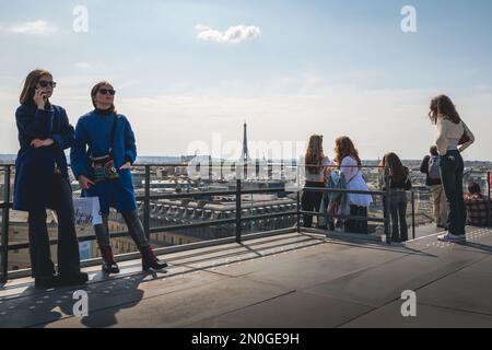
[[[32,71],[15,113],[19,150],[15,161],[14,210],[28,212],[32,275],[36,285],[80,284],[87,275],[80,271],[72,189],[65,150],[73,142],[73,127],[62,107],[51,105],[56,83],[45,70]],[[58,217],[58,272],[50,257],[46,209]]]

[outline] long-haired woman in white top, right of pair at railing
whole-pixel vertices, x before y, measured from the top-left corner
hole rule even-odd
[[[350,138],[342,136],[335,141],[335,162],[339,165],[347,183],[347,189],[368,190],[367,184],[362,176],[362,162],[359,151]],[[367,217],[367,207],[373,202],[371,195],[348,194],[350,203],[350,215]],[[367,233],[367,221],[347,220],[345,232]]]

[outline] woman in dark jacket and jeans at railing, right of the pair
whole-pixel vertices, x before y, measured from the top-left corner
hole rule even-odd
[[[408,241],[407,225],[407,194],[406,190],[412,188],[408,167],[403,166],[401,160],[395,153],[387,153],[379,164],[383,168],[388,168],[389,188],[391,195],[389,197],[389,218],[391,220],[391,241]],[[386,190],[386,186],[383,187]],[[386,200],[384,200],[386,202]],[[387,230],[389,228],[387,226]],[[389,231],[389,230],[388,230]]]

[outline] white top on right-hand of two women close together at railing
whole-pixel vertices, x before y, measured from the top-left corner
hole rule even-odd
[[[358,166],[358,161],[351,156],[345,156],[340,164],[340,171],[345,177],[347,189],[368,190],[367,184],[362,177],[362,172]],[[373,202],[373,196],[362,194],[348,194],[349,203],[360,207],[368,207]]]

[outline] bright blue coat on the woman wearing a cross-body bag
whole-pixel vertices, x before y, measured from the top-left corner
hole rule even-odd
[[[75,127],[75,141],[70,151],[70,162],[77,178],[84,175],[94,180],[90,155],[102,156],[108,153],[113,121],[113,114],[105,115],[96,110],[80,117]],[[113,156],[119,178],[91,185],[87,190],[82,190],[82,197],[98,197],[102,213],[109,213],[109,207],[119,212],[136,210],[131,172],[119,170],[127,161],[133,164],[137,159],[134,135],[130,122],[122,115],[117,115]]]

